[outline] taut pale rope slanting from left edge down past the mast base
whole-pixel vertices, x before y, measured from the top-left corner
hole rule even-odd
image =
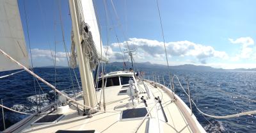
[[[64,93],[61,93],[61,91],[57,90],[55,86],[52,86],[52,84],[50,84],[49,82],[45,81],[44,79],[42,79],[41,77],[39,77],[38,75],[36,75],[34,72],[32,72],[31,70],[29,70],[28,68],[24,67],[24,65],[20,64],[18,61],[16,61],[15,59],[13,59],[11,56],[9,56],[8,54],[6,54],[6,52],[4,52],[2,49],[0,49],[0,53],[3,54],[4,56],[6,56],[6,58],[10,59],[11,61],[13,61],[14,63],[16,63],[17,65],[19,65],[21,68],[23,68],[24,70],[26,70],[29,74],[33,75],[34,77],[36,77],[37,79],[39,79],[40,81],[44,82],[47,86],[49,86],[50,88],[52,88],[52,90],[55,90],[56,93],[59,93],[60,95],[63,95],[65,98],[67,98],[68,100],[70,100],[71,102],[74,102],[76,104],[78,104],[79,106],[83,106],[83,107],[87,107],[88,109],[92,109],[93,111],[100,111],[100,112],[104,112],[104,113],[116,113],[117,111],[101,111],[98,109],[94,109],[93,107],[89,107],[86,106],[84,104],[80,104],[79,102],[77,102],[76,100],[68,97],[67,95],[65,95]],[[118,111],[120,112],[120,111]]]

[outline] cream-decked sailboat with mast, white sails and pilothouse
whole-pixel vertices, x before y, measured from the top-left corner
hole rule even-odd
[[[83,89],[76,97],[68,97],[29,69],[17,1],[0,1],[0,70],[22,68],[59,94],[57,102],[3,132],[205,132],[191,107],[170,88],[132,69],[103,71],[95,83],[92,70],[99,70],[97,65],[107,59],[93,1],[68,2],[76,49],[72,64],[78,62]]]

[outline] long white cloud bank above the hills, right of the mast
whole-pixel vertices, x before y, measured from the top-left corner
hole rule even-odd
[[[143,38],[129,38],[127,43],[130,47],[136,47],[139,51],[143,51],[154,58],[163,58],[164,54],[164,43],[158,42],[157,40],[148,40]],[[127,44],[126,42],[120,43],[123,47]],[[118,43],[113,43],[112,47],[119,47]],[[221,58],[228,59],[228,55],[223,51],[216,51],[211,46],[205,46],[189,41],[179,41],[179,42],[167,42],[166,51],[168,57],[172,56],[193,56],[200,63],[206,63],[209,58]]]

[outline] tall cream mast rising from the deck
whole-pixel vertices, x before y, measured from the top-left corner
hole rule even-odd
[[[79,63],[79,72],[81,75],[81,82],[83,88],[83,97],[85,100],[85,105],[90,107],[95,107],[95,93],[94,85],[92,80],[92,72],[90,72],[89,59],[83,56],[83,50],[81,47],[81,38],[79,34],[79,26],[77,22],[77,13],[74,0],[69,0],[70,14],[72,19],[72,29],[74,32],[74,42],[76,44],[77,51],[77,61]],[[90,75],[91,74],[91,75]]]

